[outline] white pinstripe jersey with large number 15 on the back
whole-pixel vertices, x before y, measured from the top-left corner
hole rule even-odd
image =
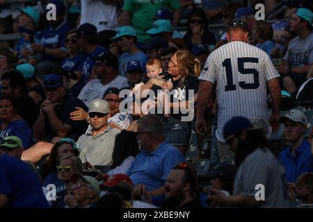
[[[220,142],[225,142],[223,126],[232,117],[264,119],[268,124],[266,82],[277,77],[279,74],[268,55],[246,42],[224,44],[209,55],[199,80],[216,83],[216,137]]]

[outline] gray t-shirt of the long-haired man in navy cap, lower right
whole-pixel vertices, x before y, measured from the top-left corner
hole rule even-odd
[[[255,197],[259,184],[264,185],[265,200],[258,207],[290,206],[284,168],[267,148],[257,148],[242,162],[234,180],[234,195]]]

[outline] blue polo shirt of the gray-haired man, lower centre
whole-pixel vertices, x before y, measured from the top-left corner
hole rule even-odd
[[[168,173],[177,163],[184,161],[184,155],[167,139],[152,153],[141,151],[126,174],[134,185],[144,184],[147,191],[152,191],[162,187]]]

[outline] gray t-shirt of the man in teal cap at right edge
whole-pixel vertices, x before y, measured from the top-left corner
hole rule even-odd
[[[291,67],[304,67],[313,63],[313,33],[305,40],[295,37],[288,45],[284,60],[289,62]]]

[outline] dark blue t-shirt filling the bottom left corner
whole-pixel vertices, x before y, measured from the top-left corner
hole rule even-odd
[[[16,157],[0,156],[0,194],[8,196],[9,208],[48,208],[39,178]]]

